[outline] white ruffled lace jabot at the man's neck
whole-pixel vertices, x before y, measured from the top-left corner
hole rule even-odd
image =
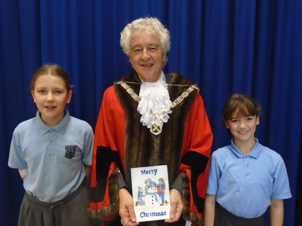
[[[164,72],[156,82],[142,82],[139,90],[140,102],[137,110],[141,115],[140,122],[143,126],[151,128],[151,123],[163,127],[168,122],[172,113],[172,102],[168,92],[168,84],[163,80]],[[156,117],[157,116],[157,117]]]

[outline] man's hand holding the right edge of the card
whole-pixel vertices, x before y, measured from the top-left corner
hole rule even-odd
[[[184,207],[181,194],[174,188],[170,190],[170,203],[170,219],[165,219],[165,222],[167,223],[178,221]]]

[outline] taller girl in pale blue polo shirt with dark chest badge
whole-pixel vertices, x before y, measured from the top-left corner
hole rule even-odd
[[[72,91],[66,71],[45,64],[31,92],[38,112],[14,131],[9,166],[19,169],[26,190],[19,226],[89,225],[89,184],[94,134],[65,109]]]

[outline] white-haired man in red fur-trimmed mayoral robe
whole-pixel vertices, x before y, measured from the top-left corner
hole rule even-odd
[[[104,93],[89,214],[105,225],[202,225],[212,132],[199,88],[162,71],[170,34],[158,19],[128,24],[120,43],[135,71]],[[168,167],[170,218],[138,223],[130,169],[155,165]]]

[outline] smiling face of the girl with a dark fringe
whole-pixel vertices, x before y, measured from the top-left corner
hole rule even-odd
[[[259,117],[256,116],[237,116],[233,114],[232,119],[225,121],[226,128],[230,129],[234,136],[234,143],[255,142],[254,134],[256,125],[259,124]]]

